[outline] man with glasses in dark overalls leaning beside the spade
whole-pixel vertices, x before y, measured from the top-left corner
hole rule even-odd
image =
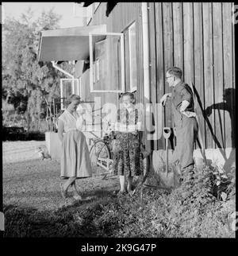
[[[194,113],[193,91],[181,80],[182,70],[177,67],[168,68],[166,80],[172,92],[163,95],[160,103],[164,106],[167,97],[171,97],[172,113],[175,120],[176,147],[172,162],[179,175],[194,173],[194,142],[198,136],[198,122]],[[181,180],[182,181],[182,180]]]

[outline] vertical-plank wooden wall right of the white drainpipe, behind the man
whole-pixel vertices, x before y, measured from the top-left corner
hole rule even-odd
[[[150,2],[152,102],[170,91],[165,71],[182,68],[198,96],[198,120],[206,148],[234,146],[235,70],[231,2]],[[173,126],[171,103],[164,126]],[[163,140],[157,148],[162,148]],[[198,145],[197,145],[198,146]]]

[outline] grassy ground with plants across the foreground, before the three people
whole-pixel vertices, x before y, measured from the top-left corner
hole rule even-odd
[[[235,237],[228,222],[235,211],[235,181],[216,188],[226,194],[221,200],[209,169],[197,170],[192,184],[188,180],[172,192],[146,189],[143,200],[140,191],[114,196],[117,176],[94,176],[76,181],[83,201],[65,201],[59,161],[32,159],[30,146],[38,142],[7,143],[13,142],[3,144],[6,237]]]

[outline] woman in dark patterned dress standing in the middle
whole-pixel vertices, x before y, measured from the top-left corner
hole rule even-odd
[[[117,112],[116,141],[113,146],[113,170],[119,175],[121,189],[118,195],[132,192],[134,176],[143,172],[143,160],[140,152],[141,114],[135,107],[134,95],[125,92],[122,97],[122,107]],[[125,177],[128,185],[125,188]]]

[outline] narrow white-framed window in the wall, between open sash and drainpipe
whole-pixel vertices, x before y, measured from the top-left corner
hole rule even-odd
[[[126,91],[137,90],[136,22],[125,29],[125,87]]]

